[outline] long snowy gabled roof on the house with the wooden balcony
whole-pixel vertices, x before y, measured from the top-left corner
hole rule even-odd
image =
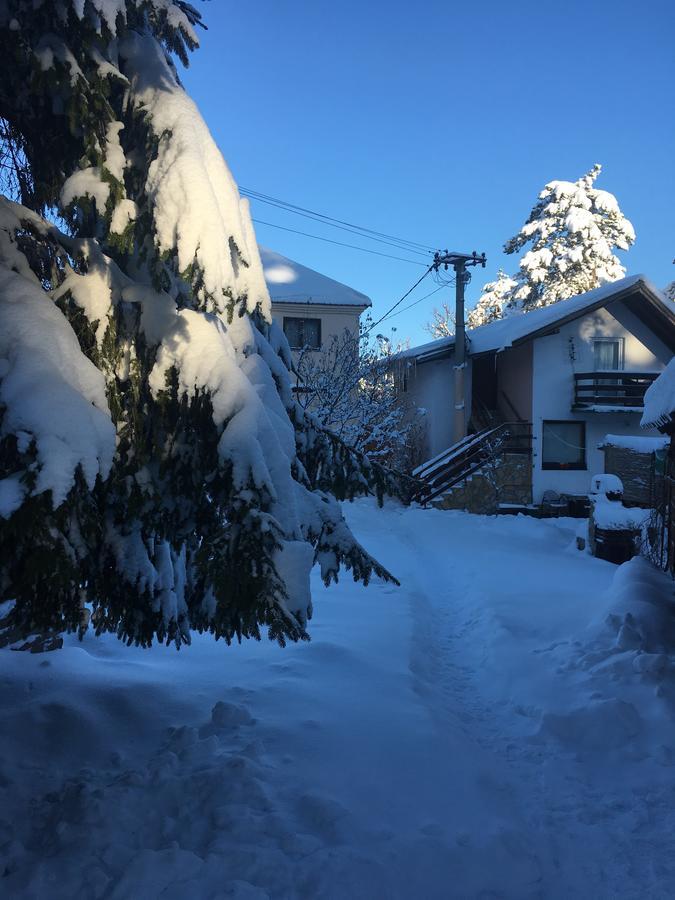
[[[496,322],[490,322],[488,325],[467,329],[469,353],[477,355],[504,350],[534,337],[539,332],[556,328],[565,321],[576,319],[586,312],[605,306],[608,302],[634,293],[636,290],[655,303],[663,314],[672,320],[675,328],[675,303],[664,297],[644,275],[631,275],[628,278],[621,278],[619,281],[595,288],[593,291],[587,291],[585,294],[577,294],[576,297],[559,300],[551,306],[544,306],[531,312],[515,312]],[[452,350],[454,346],[455,337],[450,335],[428,344],[422,344],[420,347],[412,347],[401,355],[422,362],[442,356]]]

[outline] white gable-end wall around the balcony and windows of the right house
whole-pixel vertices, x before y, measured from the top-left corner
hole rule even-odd
[[[616,313],[616,315],[614,314]],[[621,321],[620,321],[621,320]],[[627,330],[630,323],[635,333]],[[639,327],[638,327],[639,326]],[[624,338],[624,369],[661,371],[671,358],[670,351],[629,310],[614,304],[612,312],[599,309],[577,319],[533,344],[532,425],[534,435],[533,500],[540,503],[544,491],[586,494],[591,477],[604,471],[604,457],[598,444],[606,434],[657,435],[640,428],[640,413],[572,412],[574,373],[593,371],[593,339]],[[570,339],[572,344],[570,344]],[[575,359],[570,357],[573,348]],[[542,423],[545,419],[586,422],[586,469],[582,471],[541,468]]]

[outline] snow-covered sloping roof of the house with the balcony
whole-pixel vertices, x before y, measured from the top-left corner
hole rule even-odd
[[[517,346],[618,300],[624,301],[632,312],[651,325],[675,352],[675,303],[664,297],[644,275],[632,275],[585,294],[559,300],[551,306],[513,313],[488,325],[469,329],[466,332],[469,354],[478,356]],[[450,335],[412,347],[403,351],[401,356],[416,359],[418,363],[428,362],[450,354],[454,346],[455,337]]]

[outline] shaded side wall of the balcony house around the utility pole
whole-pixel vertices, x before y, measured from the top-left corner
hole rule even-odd
[[[408,370],[408,390],[403,400],[411,411],[425,410],[423,414],[425,446],[424,458],[432,457],[447,450],[453,441],[455,370],[454,357],[415,364],[411,361]],[[471,409],[471,362],[467,361],[464,378],[465,412]]]

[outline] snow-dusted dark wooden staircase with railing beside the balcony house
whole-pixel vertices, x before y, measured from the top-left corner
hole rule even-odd
[[[414,499],[426,506],[480,473],[494,480],[499,467],[512,455],[527,458],[529,478],[532,458],[532,426],[529,422],[501,422],[488,426],[418,466],[413,476],[422,482],[422,486]],[[523,485],[517,487],[522,494]],[[531,482],[529,487],[531,490]],[[503,502],[510,500],[508,488],[508,484],[500,488]]]

